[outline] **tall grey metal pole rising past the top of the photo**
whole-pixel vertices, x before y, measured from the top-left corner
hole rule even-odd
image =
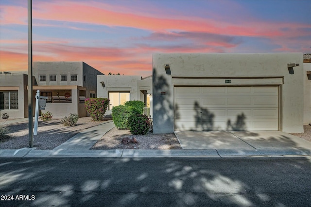
[[[33,7],[32,0],[28,0],[28,139],[29,147],[34,147],[33,130]]]

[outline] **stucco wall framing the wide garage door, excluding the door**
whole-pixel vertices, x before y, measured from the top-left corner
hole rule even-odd
[[[299,64],[294,67],[292,75],[287,67],[291,63]],[[171,75],[166,74],[165,64],[170,65]],[[282,78],[279,130],[303,132],[302,53],[154,54],[154,133],[173,132],[173,78]],[[166,95],[161,95],[161,92]]]

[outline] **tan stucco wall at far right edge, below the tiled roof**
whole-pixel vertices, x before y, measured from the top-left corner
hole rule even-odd
[[[308,125],[311,123],[311,80],[308,79],[307,71],[311,71],[311,63],[304,63],[304,117],[303,124]]]

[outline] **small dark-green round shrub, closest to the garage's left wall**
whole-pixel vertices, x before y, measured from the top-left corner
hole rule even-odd
[[[128,118],[128,126],[132,134],[146,135],[150,128],[150,119],[146,115],[134,114]]]

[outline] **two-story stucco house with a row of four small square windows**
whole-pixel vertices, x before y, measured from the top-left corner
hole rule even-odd
[[[34,62],[34,96],[48,96],[42,112],[52,112],[53,118],[70,113],[87,116],[85,99],[96,97],[96,77],[104,75],[84,62]]]

